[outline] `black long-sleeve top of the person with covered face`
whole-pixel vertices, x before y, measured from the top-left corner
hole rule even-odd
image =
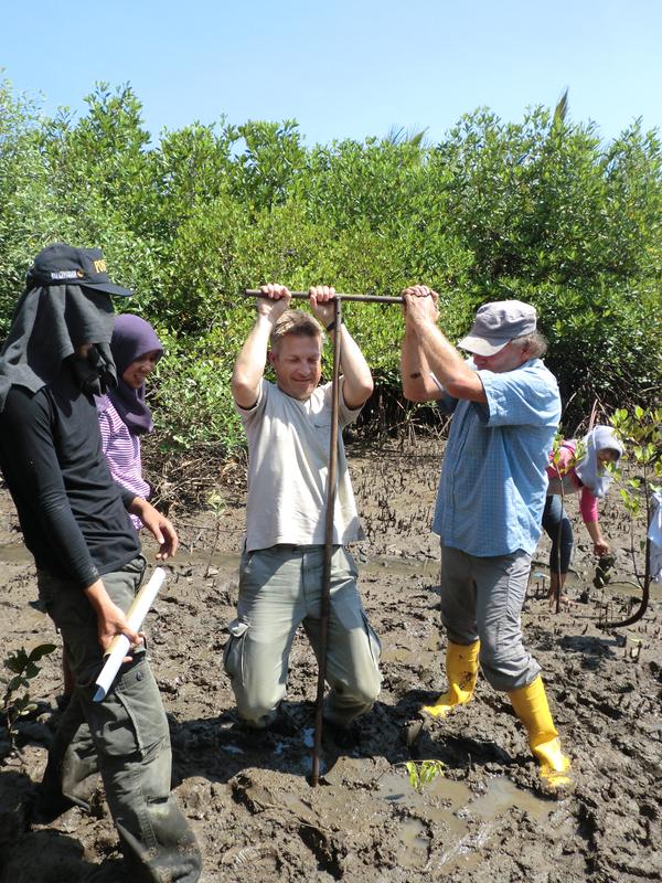
[[[72,366],[36,393],[12,386],[0,414],[0,468],[36,566],[85,588],[140,552],[102,450],[96,406]]]

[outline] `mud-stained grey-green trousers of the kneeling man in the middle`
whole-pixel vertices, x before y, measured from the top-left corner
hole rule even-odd
[[[288,660],[300,624],[318,657],[324,547],[275,545],[245,552],[239,566],[237,618],[229,626],[224,664],[239,715],[252,726],[273,721],[287,688]],[[356,587],[356,565],[333,547],[327,681],[327,720],[346,726],[378,695],[381,645]]]

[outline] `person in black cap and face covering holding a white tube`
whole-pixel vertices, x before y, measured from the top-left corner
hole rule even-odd
[[[51,245],[34,259],[0,352],[0,468],[75,680],[33,817],[47,822],[74,804],[88,808],[82,786],[98,769],[132,875],[193,883],[201,859],[170,792],[168,721],[141,636],[126,618],[146,568],[129,513],[159,542],[157,557],[174,554],[177,533],[113,480],[94,401],[117,382],[110,295],[130,294],[109,281],[98,248]],[[94,702],[104,650],[119,634],[132,657]]]

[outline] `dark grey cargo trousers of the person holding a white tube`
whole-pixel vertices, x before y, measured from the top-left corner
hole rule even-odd
[[[102,578],[128,609],[145,573],[138,557]],[[202,866],[189,822],[170,792],[171,749],[159,688],[143,651],[122,666],[103,702],[93,702],[103,664],[96,614],[71,583],[39,572],[40,599],[62,632],[75,688],[49,752],[42,784],[85,807],[84,779],[100,773],[131,875],[146,883],[194,883]]]

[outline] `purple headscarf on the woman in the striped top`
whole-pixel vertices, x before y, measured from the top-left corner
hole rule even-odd
[[[140,316],[126,312],[115,320],[110,350],[117,368],[117,387],[108,392],[108,398],[130,433],[151,433],[154,427],[145,401],[145,383],[139,390],[132,390],[122,380],[122,374],[131,362],[147,352],[156,350],[160,359],[163,355],[163,344],[149,322]]]

